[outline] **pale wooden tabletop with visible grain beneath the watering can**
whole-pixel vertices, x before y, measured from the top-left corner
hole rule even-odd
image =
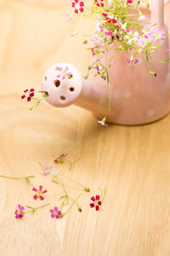
[[[0,1],[0,173],[35,174],[33,183],[48,189],[44,203],[54,207],[62,188],[42,177],[38,162],[53,163],[67,153],[65,166],[81,158],[69,175],[91,191],[66,182],[72,197],[82,191],[81,213],[74,207],[55,220],[47,207],[17,221],[18,204],[38,207],[41,202],[32,199],[26,183],[1,178],[0,254],[169,256],[170,116],[151,125],[105,130],[86,110],[55,109],[43,102],[30,112],[27,102],[20,101],[25,88],[39,89],[42,73],[55,62],[68,61],[86,72],[83,38],[70,35],[92,24],[75,15],[68,25],[63,17],[68,1],[62,1]],[[101,211],[95,212],[89,208],[90,196],[99,187],[107,193]]]

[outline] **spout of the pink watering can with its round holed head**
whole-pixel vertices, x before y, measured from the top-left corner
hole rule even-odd
[[[48,91],[47,102],[54,107],[64,108],[75,104],[102,116],[105,113],[107,85],[102,80],[95,86],[92,81],[82,79],[77,68],[58,63],[49,67],[42,77],[42,90]]]

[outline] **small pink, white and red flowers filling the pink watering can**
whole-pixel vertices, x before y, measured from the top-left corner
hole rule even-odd
[[[88,49],[94,56],[94,61],[88,66],[90,70],[95,70],[95,75],[99,75],[108,84],[108,104],[111,110],[111,98],[109,96],[109,68],[117,52],[126,52],[128,57],[123,61],[123,65],[137,66],[140,61],[144,61],[145,67],[156,77],[154,70],[150,70],[150,60],[157,50],[161,47],[163,41],[168,37],[166,32],[160,30],[158,24],[152,21],[146,21],[145,16],[140,9],[140,2],[134,0],[94,0],[92,4],[81,0],[73,0],[71,7],[75,14],[83,15],[85,19],[93,18],[97,26],[92,35],[88,35],[91,47]],[[150,5],[146,4],[146,9]],[[72,17],[65,15],[65,19],[71,23]],[[71,36],[74,36],[72,34]],[[170,49],[165,49],[165,51]],[[109,55],[108,53],[113,53]],[[104,64],[104,58],[107,59]],[[170,59],[161,61],[166,63]],[[71,79],[72,74],[68,70],[62,70],[58,67],[58,79]],[[86,76],[88,78],[88,75]],[[42,92],[42,97],[47,97],[48,93]],[[34,98],[35,99],[35,98]],[[40,101],[42,98],[40,98]],[[39,102],[40,102],[39,101]],[[39,103],[38,102],[38,103]],[[38,105],[38,104],[37,104]],[[37,107],[36,105],[36,107]],[[109,111],[108,110],[108,111]],[[99,120],[99,124],[105,125],[107,113],[104,119]]]

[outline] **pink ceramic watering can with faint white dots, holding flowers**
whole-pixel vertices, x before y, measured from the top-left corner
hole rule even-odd
[[[163,0],[151,0],[150,12],[141,10],[146,20],[156,22],[161,30],[167,32]],[[48,68],[42,76],[42,90],[48,91],[46,100],[54,107],[75,104],[94,112],[98,119],[107,113],[107,121],[120,125],[150,123],[170,111],[170,68],[168,62],[160,63],[169,58],[166,49],[169,49],[168,38],[150,61],[150,70],[156,73],[155,76],[148,72],[144,61],[139,61],[136,67],[125,65],[127,54],[119,51],[109,69],[109,90],[104,79],[94,77],[96,70],[90,71],[88,79],[82,79],[77,68],[66,63]],[[110,58],[111,53],[108,60]],[[108,92],[113,103],[111,111],[107,112]]]

